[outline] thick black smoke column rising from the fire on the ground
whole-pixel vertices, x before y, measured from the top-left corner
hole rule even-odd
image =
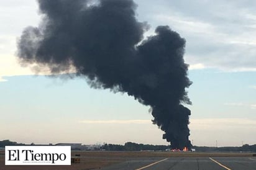
[[[95,88],[127,92],[152,108],[153,123],[172,148],[191,146],[190,104],[184,63],[185,39],[168,26],[142,43],[148,29],[135,18],[132,0],[40,0],[39,27],[27,27],[19,42],[21,63],[62,73],[76,68]],[[39,69],[40,71],[40,69]]]

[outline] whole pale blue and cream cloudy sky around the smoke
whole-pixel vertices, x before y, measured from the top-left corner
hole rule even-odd
[[[256,2],[135,2],[137,19],[150,25],[145,37],[169,25],[186,39],[191,143],[255,144]],[[0,12],[0,140],[168,145],[150,108],[133,97],[91,89],[79,77],[35,75],[19,64],[17,39],[42,17],[37,1],[1,1]]]

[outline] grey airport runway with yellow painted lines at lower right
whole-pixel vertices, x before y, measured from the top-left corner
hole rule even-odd
[[[255,157],[200,157],[200,158],[135,158],[102,168],[109,169],[189,169],[189,170],[256,170]]]

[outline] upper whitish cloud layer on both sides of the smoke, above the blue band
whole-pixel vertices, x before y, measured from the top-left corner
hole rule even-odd
[[[170,25],[171,29],[186,38],[185,57],[190,69],[256,71],[256,11],[253,8],[256,2],[135,2],[139,4],[139,20],[149,20],[152,26]],[[6,80],[3,77],[7,76],[35,74],[29,68],[22,68],[14,53],[16,37],[21,34],[25,25],[37,25],[39,22],[37,3],[21,1],[15,3],[15,6],[13,4],[14,1],[6,1],[1,9],[7,16],[2,17],[6,24],[0,29],[0,81]],[[9,7],[19,10],[10,10]],[[16,23],[15,27],[13,23]],[[146,36],[153,34],[153,28],[150,30]]]

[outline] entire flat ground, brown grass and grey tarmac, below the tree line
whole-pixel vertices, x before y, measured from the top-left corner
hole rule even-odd
[[[256,170],[255,153],[193,153],[159,151],[72,151],[81,163],[71,166],[5,166],[0,151],[1,170],[88,170],[88,169],[188,169]]]

